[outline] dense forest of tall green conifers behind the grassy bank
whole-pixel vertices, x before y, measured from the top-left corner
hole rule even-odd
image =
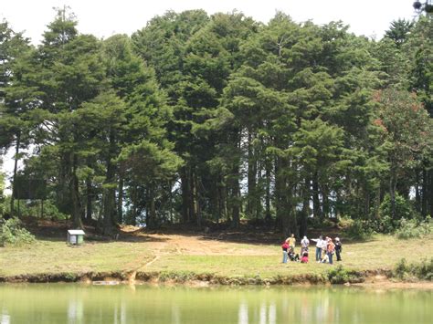
[[[106,235],[433,215],[431,16],[380,40],[283,13],[167,12],[107,39],[77,24],[58,10],[37,47],[0,24],[1,214],[39,213],[16,194],[33,179],[45,214]]]

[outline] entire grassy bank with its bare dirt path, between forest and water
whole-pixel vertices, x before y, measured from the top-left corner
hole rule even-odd
[[[407,263],[433,256],[433,240],[397,240],[375,235],[366,242],[343,241],[344,269],[354,274],[389,273]],[[43,240],[31,246],[0,248],[3,281],[67,281],[128,277],[143,280],[205,280],[215,283],[261,284],[325,282],[336,267],[313,261],[281,264],[280,244],[215,240],[200,235],[139,235],[121,241],[86,242],[67,246],[62,240]],[[33,280],[31,278],[34,278]],[[50,279],[51,278],[51,279]],[[55,279],[54,279],[55,278]],[[232,282],[230,282],[232,280]]]

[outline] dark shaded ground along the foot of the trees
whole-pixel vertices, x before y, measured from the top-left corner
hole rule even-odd
[[[68,229],[72,228],[69,221],[51,221],[28,217],[24,220],[26,228],[36,235],[38,240],[51,242],[66,242]],[[128,227],[128,226],[125,226]],[[124,227],[124,228],[125,228]],[[151,230],[147,228],[134,228],[130,231],[124,228],[118,229],[114,235],[100,235],[94,226],[85,225],[85,241],[111,243],[111,242],[166,242],[170,237],[164,235],[182,235],[185,237],[195,237],[204,241],[220,241],[227,243],[241,243],[250,245],[275,245],[285,240],[281,231],[275,230],[273,226],[241,224],[238,228],[231,228],[227,224],[198,227],[191,224],[163,225],[159,229]],[[310,228],[307,236],[310,239],[310,246],[315,246],[312,238],[330,236],[333,239],[340,237],[343,245],[366,243],[375,241],[375,237],[351,238],[344,235],[344,228],[338,226],[324,227],[322,229]],[[297,246],[301,243],[301,237],[296,235]]]

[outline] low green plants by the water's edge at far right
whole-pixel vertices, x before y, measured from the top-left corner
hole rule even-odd
[[[402,258],[396,264],[393,270],[393,276],[401,280],[433,280],[433,257],[423,259],[421,263],[408,264],[405,258]]]

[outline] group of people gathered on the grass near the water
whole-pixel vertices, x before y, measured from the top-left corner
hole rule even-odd
[[[319,238],[312,238],[313,242],[316,242],[316,262],[333,264],[333,254],[337,256],[337,261],[342,261],[342,242],[340,238],[326,236],[323,238],[322,235]],[[303,236],[301,239],[301,254],[295,253],[296,238],[295,235],[290,235],[282,244],[282,263],[290,261],[301,261],[301,263],[308,263],[308,248],[310,246],[310,240],[307,236]]]

